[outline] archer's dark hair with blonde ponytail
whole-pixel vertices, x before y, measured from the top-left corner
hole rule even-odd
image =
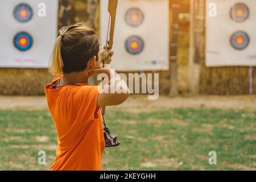
[[[52,75],[83,71],[89,59],[98,57],[100,40],[85,23],[63,27],[55,41],[49,72]]]

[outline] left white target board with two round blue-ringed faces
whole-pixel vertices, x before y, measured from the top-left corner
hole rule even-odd
[[[57,34],[58,2],[1,2],[0,24],[4,25],[0,28],[1,68],[48,67]]]

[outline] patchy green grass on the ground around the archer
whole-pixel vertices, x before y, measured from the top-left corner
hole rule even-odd
[[[256,169],[256,111],[170,109],[127,113],[110,109],[118,147],[106,148],[103,169]],[[0,169],[48,170],[55,158],[56,132],[47,110],[0,110]],[[38,151],[47,164],[38,164]],[[217,165],[208,152],[217,152]]]

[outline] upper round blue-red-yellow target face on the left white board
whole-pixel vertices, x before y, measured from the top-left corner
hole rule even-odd
[[[19,4],[14,9],[14,18],[18,20],[18,22],[28,22],[31,20],[33,16],[33,11],[31,7],[27,4]]]

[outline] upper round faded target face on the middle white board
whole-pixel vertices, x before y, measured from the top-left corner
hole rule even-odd
[[[125,21],[129,26],[137,27],[142,24],[144,15],[138,8],[131,8],[125,14]]]

